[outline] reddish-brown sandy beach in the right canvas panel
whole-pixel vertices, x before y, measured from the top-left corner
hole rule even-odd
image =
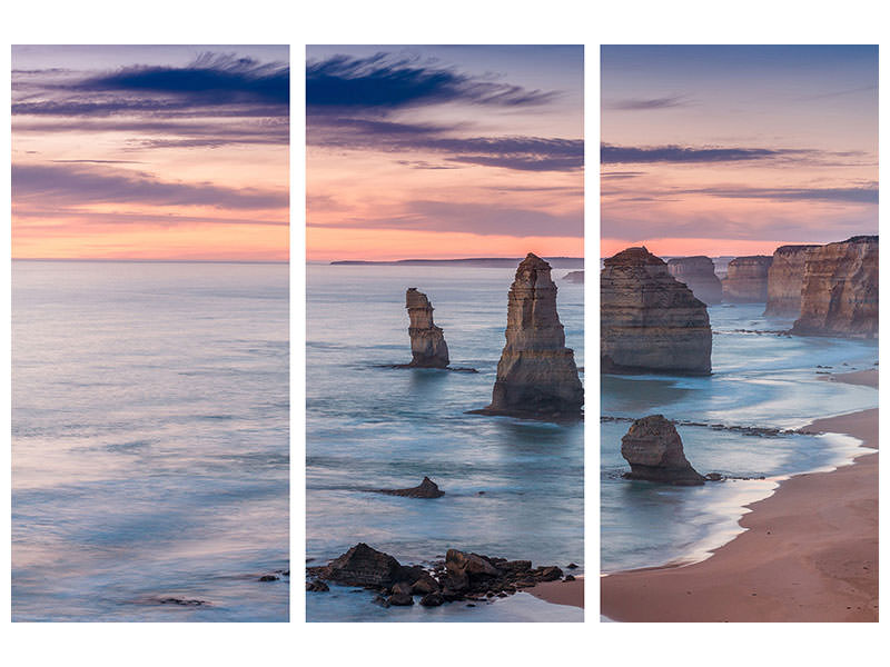
[[[878,371],[835,376],[877,387]],[[799,475],[752,504],[744,532],[704,561],[601,579],[619,621],[877,621],[878,409],[813,421],[876,449],[831,472]]]

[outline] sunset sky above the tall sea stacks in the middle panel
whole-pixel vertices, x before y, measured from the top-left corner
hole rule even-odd
[[[583,256],[582,47],[308,47],[307,258]]]

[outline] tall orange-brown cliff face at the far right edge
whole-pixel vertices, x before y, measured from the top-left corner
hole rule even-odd
[[[809,252],[798,336],[878,336],[878,237],[852,237]]]

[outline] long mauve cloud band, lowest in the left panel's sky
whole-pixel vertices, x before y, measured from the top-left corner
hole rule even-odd
[[[12,165],[14,203],[141,203],[264,210],[288,206],[288,193],[211,183],[162,181],[151,173],[87,165]]]

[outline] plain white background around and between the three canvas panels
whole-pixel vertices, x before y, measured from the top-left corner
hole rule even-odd
[[[291,60],[291,568],[304,567],[305,390],[305,44],[585,44],[586,257],[599,257],[599,90],[601,43],[881,43],[890,21],[878,1],[798,2],[663,0],[607,3],[485,1],[298,0],[196,2],[154,0],[22,1],[0,12],[3,50],[0,102],[9,128],[10,44],[290,44]],[[886,6],[886,3],[884,3]],[[887,58],[881,44],[881,120]],[[882,127],[887,127],[881,122]],[[10,155],[9,132],[2,132]],[[888,151],[882,151],[887,158]],[[882,160],[883,161],[883,160]],[[10,470],[9,161],[0,160],[6,232],[0,236],[0,470]],[[883,207],[881,231],[884,230]],[[881,261],[881,272],[887,271]],[[599,339],[599,292],[587,282],[586,341]],[[888,327],[883,327],[887,329]],[[881,337],[883,348],[883,336]],[[589,361],[596,378],[595,357]],[[890,371],[889,371],[890,372]],[[881,374],[884,375],[883,372]],[[881,384],[884,382],[882,377]],[[587,386],[596,415],[596,382]],[[881,431],[887,415],[882,411]],[[586,429],[586,561],[599,552],[599,429]],[[887,479],[887,466],[881,478]],[[0,475],[0,573],[10,571],[9,475]],[[881,485],[882,491],[887,485]],[[881,497],[886,497],[882,492]],[[882,535],[888,535],[882,502]],[[888,548],[881,550],[883,554]],[[59,558],[65,558],[63,554]],[[886,563],[882,563],[886,565]],[[591,571],[595,569],[590,568]],[[886,568],[882,568],[886,569]],[[886,578],[886,577],[884,577]],[[14,666],[67,665],[849,665],[887,664],[882,624],[600,624],[596,577],[587,578],[585,624],[305,624],[299,577],[290,624],[11,624],[9,576],[0,577],[0,660]],[[881,586],[882,591],[887,586]],[[883,597],[883,596],[881,596]]]

